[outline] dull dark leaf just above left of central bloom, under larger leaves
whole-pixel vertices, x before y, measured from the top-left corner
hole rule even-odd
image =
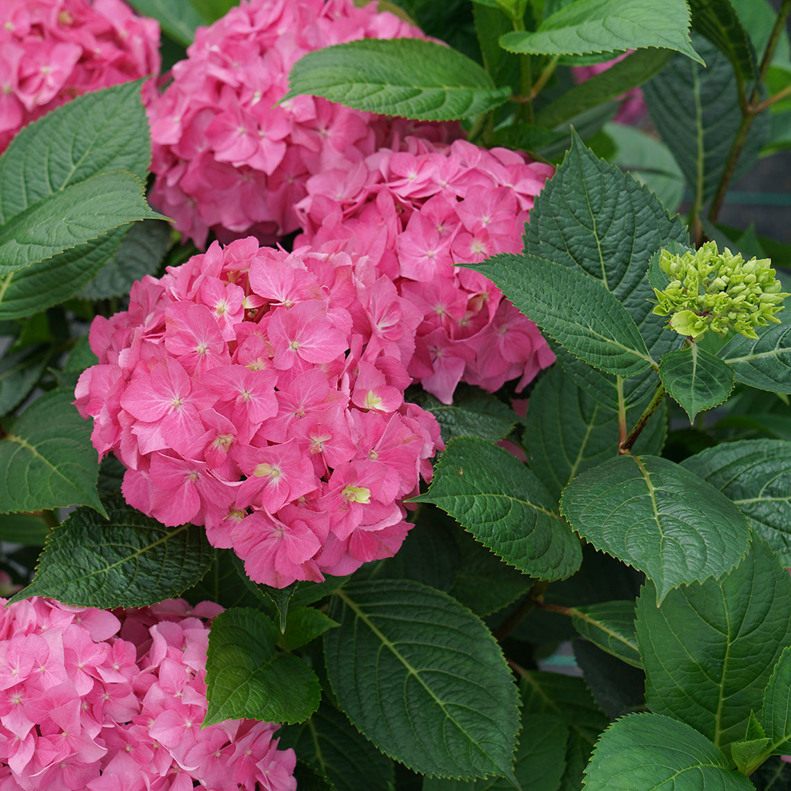
[[[121,297],[145,274],[155,274],[170,246],[165,222],[136,222],[112,257],[82,287],[80,297],[90,300]]]

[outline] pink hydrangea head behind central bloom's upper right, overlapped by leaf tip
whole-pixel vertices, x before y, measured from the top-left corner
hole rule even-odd
[[[297,214],[311,244],[369,256],[421,315],[408,371],[451,403],[461,380],[517,389],[554,354],[490,280],[456,264],[521,250],[533,199],[554,173],[509,149],[409,137],[351,168],[311,176]]]

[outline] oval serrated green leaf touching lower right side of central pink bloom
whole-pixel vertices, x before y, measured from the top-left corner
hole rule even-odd
[[[580,566],[579,541],[528,467],[475,437],[448,442],[426,494],[510,566],[545,580],[570,577]]]

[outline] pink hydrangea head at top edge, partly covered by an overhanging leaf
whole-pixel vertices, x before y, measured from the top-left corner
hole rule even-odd
[[[205,247],[253,234],[271,244],[297,230],[293,204],[314,173],[347,169],[394,136],[452,127],[395,121],[301,96],[278,104],[294,62],[309,51],[363,38],[423,38],[372,2],[242,0],[199,28],[173,81],[149,103],[153,206]]]

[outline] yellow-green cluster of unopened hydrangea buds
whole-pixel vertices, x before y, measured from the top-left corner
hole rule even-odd
[[[707,329],[717,335],[729,330],[757,338],[755,327],[765,327],[782,310],[789,294],[781,293],[768,258],[744,261],[728,248],[706,242],[698,252],[672,255],[663,250],[659,265],[670,278],[664,291],[654,289],[658,316],[670,316],[668,327],[681,335],[697,338]]]

